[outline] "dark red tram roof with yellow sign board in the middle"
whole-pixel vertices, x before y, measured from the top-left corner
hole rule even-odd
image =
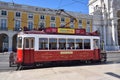
[[[86,32],[85,29],[73,29],[73,28],[45,28],[41,31],[31,30],[24,31],[24,34],[70,34],[70,35],[86,35],[86,36],[99,36],[98,32]]]

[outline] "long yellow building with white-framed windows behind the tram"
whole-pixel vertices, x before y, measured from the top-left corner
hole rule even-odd
[[[33,30],[65,25],[70,28],[85,28],[87,32],[92,32],[91,15],[67,11],[77,19],[73,21],[73,18],[64,12],[60,15],[56,13],[57,10],[54,9],[0,1],[0,52],[16,50],[17,33],[24,27]]]

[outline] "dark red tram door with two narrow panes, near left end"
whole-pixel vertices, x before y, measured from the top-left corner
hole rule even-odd
[[[34,63],[34,38],[24,38],[23,61],[25,64]]]

